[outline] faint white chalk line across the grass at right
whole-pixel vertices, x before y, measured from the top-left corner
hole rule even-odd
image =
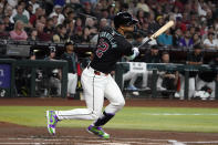
[[[204,113],[142,113],[143,115],[152,116],[218,116],[217,113],[204,114]]]

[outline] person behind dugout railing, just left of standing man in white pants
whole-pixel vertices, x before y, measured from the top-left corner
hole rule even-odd
[[[56,49],[55,46],[49,46],[50,53],[44,60],[56,61]],[[54,95],[61,95],[61,71],[59,69],[52,69],[46,71],[49,76],[49,90]]]

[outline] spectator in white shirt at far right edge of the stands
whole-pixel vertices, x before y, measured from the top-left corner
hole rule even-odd
[[[204,41],[204,45],[206,49],[218,49],[218,40],[215,39],[215,34],[212,32],[208,33],[207,39]]]

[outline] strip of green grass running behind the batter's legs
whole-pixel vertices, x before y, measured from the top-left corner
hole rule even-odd
[[[45,126],[46,110],[75,106],[0,106],[0,122]],[[167,114],[168,113],[168,114]],[[92,121],[62,121],[62,127],[86,127]],[[107,128],[135,128],[177,132],[218,133],[218,108],[124,107],[106,124]]]

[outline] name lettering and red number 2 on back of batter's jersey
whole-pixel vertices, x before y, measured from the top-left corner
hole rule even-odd
[[[117,44],[114,41],[114,33],[110,33],[106,31],[103,31],[100,33],[100,40],[98,40],[98,44],[97,44],[97,50],[96,50],[96,55],[97,58],[102,58],[102,55],[104,54],[104,52],[106,52],[110,46],[111,48],[116,48]]]

